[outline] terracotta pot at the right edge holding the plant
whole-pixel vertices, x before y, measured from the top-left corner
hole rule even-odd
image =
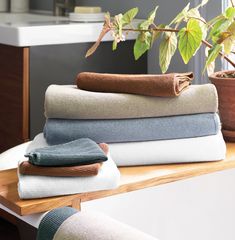
[[[209,79],[218,91],[219,114],[224,138],[235,142],[235,78],[221,77],[223,73],[229,74],[235,71],[216,72],[209,76]]]

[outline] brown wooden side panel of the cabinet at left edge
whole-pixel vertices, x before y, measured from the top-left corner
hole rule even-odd
[[[29,138],[29,48],[0,44],[0,152]]]

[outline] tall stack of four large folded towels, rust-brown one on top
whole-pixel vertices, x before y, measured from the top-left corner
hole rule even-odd
[[[46,141],[109,143],[118,166],[224,159],[216,88],[192,77],[80,73],[77,86],[51,85]]]

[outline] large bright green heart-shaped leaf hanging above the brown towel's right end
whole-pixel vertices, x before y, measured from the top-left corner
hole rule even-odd
[[[187,23],[187,27],[181,29],[178,35],[179,51],[184,63],[187,64],[199,49],[203,33],[198,21],[190,19]]]

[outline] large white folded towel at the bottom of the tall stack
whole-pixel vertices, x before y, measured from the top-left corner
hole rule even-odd
[[[225,159],[226,144],[217,135],[173,140],[109,144],[118,166],[218,161]]]

